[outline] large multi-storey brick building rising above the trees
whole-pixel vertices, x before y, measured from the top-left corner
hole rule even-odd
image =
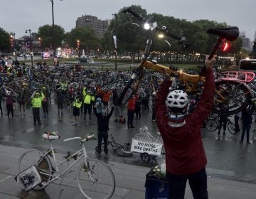
[[[75,22],[75,28],[90,27],[95,31],[97,37],[102,37],[108,26],[108,21],[102,21],[96,16],[90,15],[82,15]]]

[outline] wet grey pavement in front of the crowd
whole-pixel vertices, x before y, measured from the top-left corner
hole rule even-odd
[[[58,185],[49,185],[40,192],[25,193],[14,181],[17,174],[18,157],[27,149],[49,148],[48,141],[43,141],[41,134],[45,131],[58,131],[60,140],[53,141],[58,154],[78,149],[78,143],[70,141],[64,143],[63,139],[73,136],[85,136],[97,132],[97,120],[92,114],[92,119],[84,120],[81,117],[80,127],[73,127],[73,115],[70,108],[64,109],[63,116],[58,116],[55,104],[50,104],[49,117],[43,118],[41,112],[41,126],[33,125],[32,111],[26,110],[26,116],[19,116],[17,110],[13,120],[8,119],[6,110],[4,117],[0,117],[0,198],[58,198],[60,188]],[[126,116],[126,109],[123,110]],[[127,129],[126,124],[114,122],[114,115],[110,119],[109,133],[120,144],[131,142],[139,127],[147,126],[149,131],[158,131],[155,122],[151,122],[151,111],[142,109],[142,119],[134,121],[135,129]],[[255,128],[253,124],[252,129]],[[256,145],[239,144],[240,133],[226,136],[217,132],[207,132],[202,129],[203,143],[208,157],[208,189],[210,198],[256,198]],[[117,180],[117,189],[113,198],[144,198],[145,176],[151,166],[161,163],[161,157],[143,163],[140,154],[134,153],[131,157],[120,157],[110,153],[105,156],[95,154],[97,141],[88,141],[85,146],[89,155],[100,158],[110,165]],[[60,156],[61,156],[60,155]],[[72,196],[71,196],[72,195]],[[79,190],[70,188],[64,190],[61,198],[82,198]],[[192,198],[190,189],[186,190],[186,198]]]

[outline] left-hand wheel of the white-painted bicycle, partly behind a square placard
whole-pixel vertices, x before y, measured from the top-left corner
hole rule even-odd
[[[41,176],[42,183],[33,188],[33,190],[41,190],[46,187],[43,183],[50,181],[52,177],[52,164],[46,154],[37,149],[26,151],[18,159],[18,173],[25,171],[31,166],[36,166]]]

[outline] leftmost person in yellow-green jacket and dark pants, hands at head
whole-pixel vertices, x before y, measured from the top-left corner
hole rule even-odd
[[[40,109],[42,107],[42,101],[44,98],[43,92],[41,94],[39,92],[34,92],[31,96],[31,104],[32,104],[32,112],[33,112],[33,124],[36,125],[36,121],[38,125],[41,125],[40,120]]]

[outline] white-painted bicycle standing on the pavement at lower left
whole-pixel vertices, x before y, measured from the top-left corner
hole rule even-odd
[[[74,186],[74,178],[68,175],[74,171],[78,171],[76,179],[78,182],[78,188],[85,198],[111,198],[115,189],[114,173],[110,166],[106,163],[91,159],[87,156],[85,149],[85,141],[95,139],[93,135],[87,135],[85,138],[73,137],[65,139],[64,141],[79,140],[81,149],[74,154],[68,153],[68,156],[57,163],[55,156],[55,149],[51,141],[60,139],[60,136],[56,133],[44,133],[44,140],[50,141],[50,149],[43,153],[37,149],[31,149],[26,151],[18,160],[18,183],[21,183],[25,190],[41,190],[46,188],[50,183],[60,184],[65,182],[65,185],[70,181],[70,186]],[[66,166],[63,171],[60,171],[60,166],[63,163],[69,162],[74,159],[70,166]],[[82,161],[79,167],[74,166]],[[29,178],[28,175],[24,175],[25,171],[31,166],[36,167],[38,172],[38,178],[41,178],[41,182],[33,186],[33,178]]]

